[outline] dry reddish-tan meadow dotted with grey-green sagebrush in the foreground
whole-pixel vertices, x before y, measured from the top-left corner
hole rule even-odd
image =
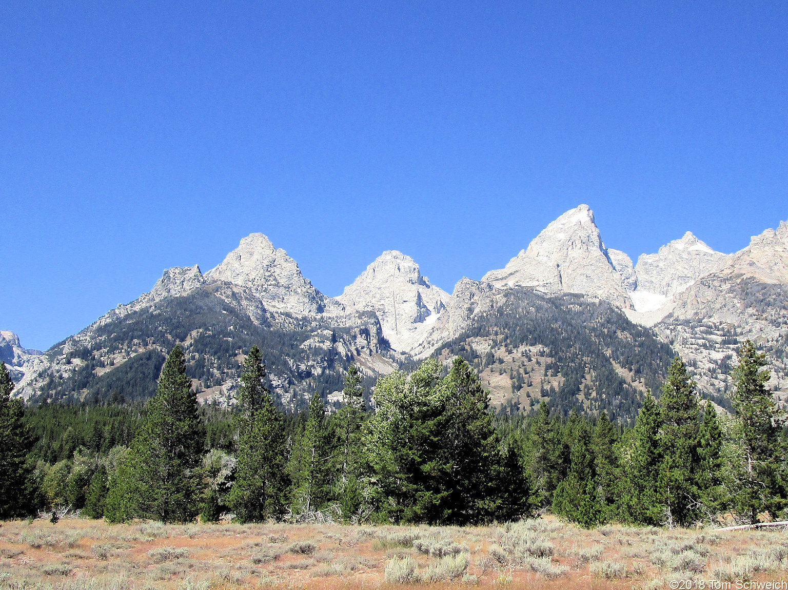
[[[777,582],[756,585],[753,582]],[[608,526],[0,525],[0,588],[781,588],[788,532]]]

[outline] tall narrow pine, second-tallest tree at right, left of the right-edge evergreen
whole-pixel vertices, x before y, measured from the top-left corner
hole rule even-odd
[[[697,518],[698,414],[695,383],[682,359],[676,357],[660,397],[662,462],[657,483],[665,519],[671,525],[689,525]]]

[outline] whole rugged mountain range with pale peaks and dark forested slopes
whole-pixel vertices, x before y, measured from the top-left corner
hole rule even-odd
[[[730,407],[736,350],[767,353],[768,386],[788,401],[788,224],[723,254],[687,232],[633,264],[605,246],[592,211],[563,213],[503,269],[431,284],[409,256],[386,251],[336,298],[255,233],[224,262],[165,270],[150,292],[117,306],[46,352],[0,332],[0,359],[32,402],[146,399],[165,354],[180,344],[206,403],[232,404],[240,362],[263,351],[270,385],[289,410],[314,391],[340,403],[351,363],[374,379],[430,354],[472,363],[492,405],[528,412],[607,410],[634,419],[678,354],[702,395]]]

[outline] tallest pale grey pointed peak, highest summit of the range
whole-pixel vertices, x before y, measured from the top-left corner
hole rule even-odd
[[[579,205],[548,224],[527,250],[504,269],[481,278],[497,287],[522,285],[546,293],[597,295],[630,308],[628,285],[634,285],[632,261],[604,246],[588,205]]]

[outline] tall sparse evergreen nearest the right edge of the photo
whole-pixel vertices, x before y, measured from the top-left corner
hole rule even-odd
[[[771,373],[761,370],[766,354],[746,340],[738,351],[734,369],[733,403],[741,425],[741,445],[745,456],[745,476],[740,482],[734,506],[742,521],[754,522],[768,510],[772,515],[785,506],[782,481],[783,449],[779,429],[783,414],[766,388]]]

